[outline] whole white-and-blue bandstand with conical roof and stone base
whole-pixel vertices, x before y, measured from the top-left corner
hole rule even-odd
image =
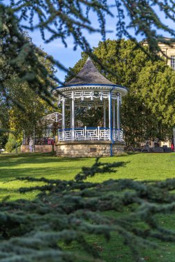
[[[57,92],[59,90],[60,92]],[[127,88],[106,79],[91,59],[71,81],[53,91],[62,103],[62,129],[58,130],[57,156],[108,157],[124,151],[125,141],[120,128],[120,105]],[[71,125],[66,127],[65,107],[70,108]],[[77,108],[102,108],[103,125],[75,126]],[[77,120],[77,119],[76,119]]]

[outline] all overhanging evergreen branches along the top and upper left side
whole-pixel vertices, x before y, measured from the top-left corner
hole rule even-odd
[[[61,83],[59,79],[50,75],[46,67],[39,62],[39,57],[42,57],[43,54],[28,37],[24,37],[24,30],[39,29],[46,43],[61,39],[65,47],[67,38],[72,37],[74,49],[79,46],[93,60],[101,64],[101,61],[92,54],[92,48],[85,37],[84,30],[91,33],[100,32],[104,40],[107,32],[105,28],[107,16],[116,17],[117,15],[116,34],[119,39],[122,37],[136,39],[129,34],[129,28],[133,28],[136,35],[141,34],[147,39],[151,54],[157,54],[161,52],[158,46],[159,41],[169,45],[174,41],[174,39],[164,39],[159,34],[159,30],[170,34],[171,37],[175,36],[175,31],[173,26],[170,28],[162,23],[154,8],[160,8],[162,14],[174,23],[174,7],[175,3],[167,0],[116,0],[114,6],[109,5],[105,0],[11,0],[9,5],[6,1],[1,1],[0,54],[3,63],[0,63],[0,92],[8,102],[17,103],[22,108],[21,103],[13,99],[6,90],[5,82],[10,79],[12,73],[17,74],[22,82],[27,82],[31,89],[49,103],[50,88],[55,87],[51,79]],[[130,19],[129,23],[125,18],[125,10]],[[91,12],[98,18],[97,27],[93,26]],[[48,32],[48,39],[46,39],[45,32]],[[57,68],[68,71],[60,61],[49,56],[48,59]],[[107,70],[107,68],[104,69]]]

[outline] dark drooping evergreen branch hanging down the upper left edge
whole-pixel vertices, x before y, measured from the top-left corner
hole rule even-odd
[[[55,86],[52,81],[53,76],[39,61],[40,58],[45,57],[44,52],[36,48],[21,30],[19,19],[15,17],[11,8],[1,4],[0,17],[0,92],[2,96],[6,98],[8,106],[12,102],[23,109],[23,105],[17,99],[13,99],[8,91],[8,81],[12,76],[16,76],[19,78],[19,84],[27,83],[42,99],[52,104],[49,88]]]

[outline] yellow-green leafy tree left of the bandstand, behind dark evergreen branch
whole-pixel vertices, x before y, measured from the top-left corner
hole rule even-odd
[[[44,56],[42,63],[51,75],[54,72],[53,64],[47,59],[46,53]],[[24,109],[20,110],[18,105],[11,103],[8,110],[10,130],[13,131],[16,139],[20,141],[23,133],[26,134],[26,137],[42,134],[44,129],[42,117],[53,112],[54,100],[52,106],[49,105],[39,97],[36,91],[31,90],[27,83],[21,83],[15,75],[6,83],[6,90]]]

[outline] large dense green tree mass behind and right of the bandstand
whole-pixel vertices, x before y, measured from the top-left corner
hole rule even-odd
[[[147,47],[144,48],[148,52]],[[93,52],[107,68],[107,71],[104,71],[96,63],[104,77],[129,89],[127,97],[122,102],[121,117],[127,143],[171,137],[172,127],[175,124],[175,74],[172,68],[167,66],[166,61],[152,61],[138,48],[135,41],[124,39],[120,42],[111,40],[100,42]],[[82,59],[70,70],[75,74],[79,72],[86,58],[87,55],[82,54]],[[72,76],[68,74],[66,81],[71,78]],[[91,126],[92,123],[87,122],[86,114],[89,116],[92,112],[95,114],[95,108],[86,110],[86,114],[84,110],[77,111],[81,111],[77,117]],[[102,110],[101,112],[98,110],[96,114],[97,119],[102,119]],[[89,119],[92,121],[91,117]],[[95,123],[96,119],[93,123],[96,126]]]

